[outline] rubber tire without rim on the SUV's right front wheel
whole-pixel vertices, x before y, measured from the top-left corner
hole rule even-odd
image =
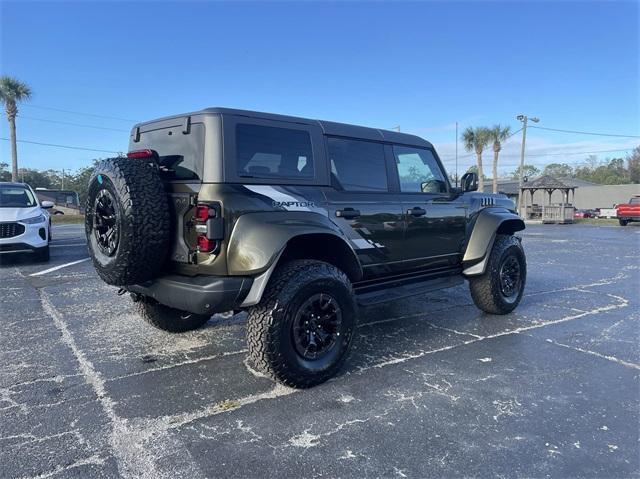
[[[500,283],[500,269],[508,257],[514,256],[520,266],[521,281],[517,294],[505,297]],[[522,299],[527,279],[527,261],[520,240],[511,235],[497,235],[489,256],[486,272],[469,279],[475,305],[490,314],[508,314]]]

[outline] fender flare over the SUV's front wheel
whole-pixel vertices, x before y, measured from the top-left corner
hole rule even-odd
[[[469,243],[462,258],[465,276],[484,274],[487,260],[498,234],[513,234],[525,229],[522,218],[502,208],[487,208],[478,213]]]

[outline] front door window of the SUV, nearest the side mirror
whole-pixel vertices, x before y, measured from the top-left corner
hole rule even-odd
[[[423,148],[394,146],[400,191],[403,193],[446,193],[447,182],[433,153]]]

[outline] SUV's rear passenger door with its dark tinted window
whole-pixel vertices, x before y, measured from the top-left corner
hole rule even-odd
[[[402,209],[390,192],[390,162],[382,143],[327,137],[331,188],[325,188],[329,217],[358,254],[365,279],[400,268]]]

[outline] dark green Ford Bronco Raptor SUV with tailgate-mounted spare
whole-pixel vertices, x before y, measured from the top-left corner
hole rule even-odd
[[[476,189],[417,136],[208,108],[135,125],[126,157],[95,168],[85,227],[145,321],[181,332],[245,310],[254,365],[310,387],[344,363],[358,304],[466,279],[481,310],[518,305],[524,222]]]

